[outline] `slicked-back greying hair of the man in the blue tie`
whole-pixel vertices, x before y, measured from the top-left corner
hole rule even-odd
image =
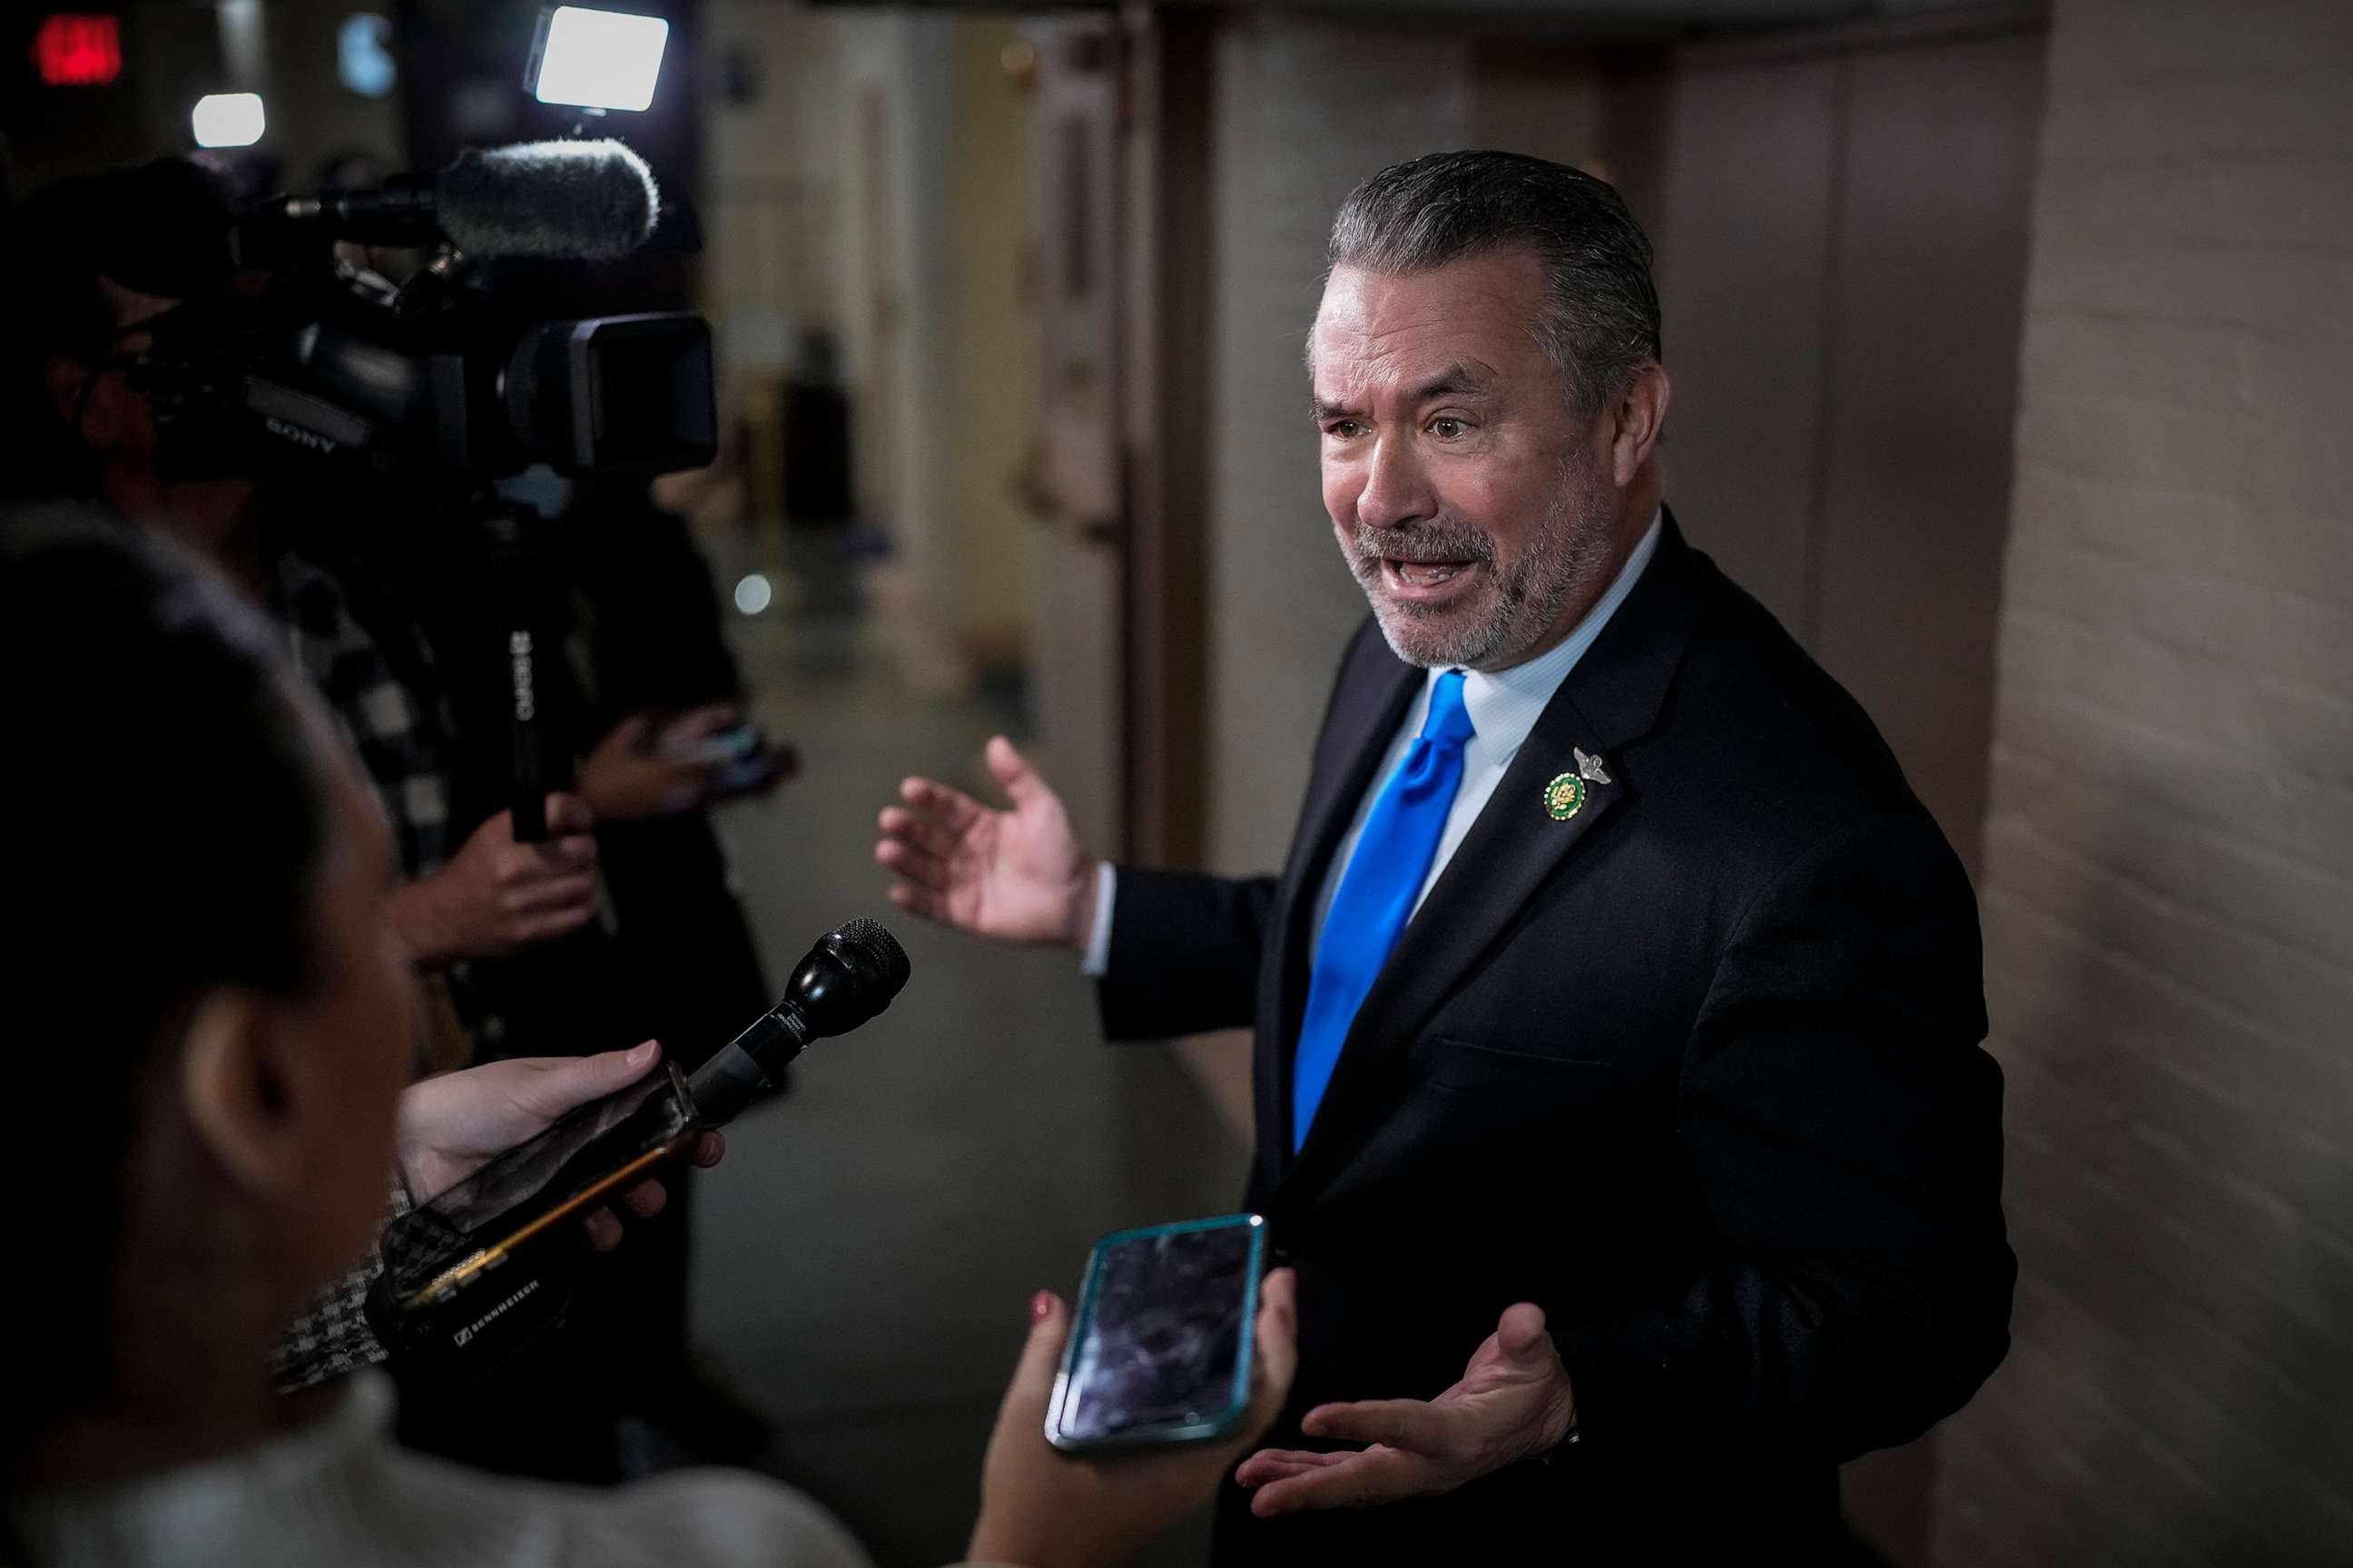
[[[1426,273],[1525,247],[1551,301],[1529,322],[1591,411],[1659,362],[1649,237],[1607,181],[1525,153],[1431,153],[1369,176],[1332,219],[1329,266]]]

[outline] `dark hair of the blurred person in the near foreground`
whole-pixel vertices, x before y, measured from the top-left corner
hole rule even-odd
[[[40,1258],[7,1446],[101,1375],[125,1166],[151,1067],[219,985],[320,976],[318,752],[278,637],[207,569],[80,508],[0,512],[0,954],[19,1133],[0,1154]],[[42,1147],[66,1133],[71,1150]],[[31,1225],[31,1234],[24,1227]]]

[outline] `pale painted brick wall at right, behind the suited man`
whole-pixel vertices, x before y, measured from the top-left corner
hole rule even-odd
[[[2353,1561],[2353,5],[2057,0],[1939,1563]]]

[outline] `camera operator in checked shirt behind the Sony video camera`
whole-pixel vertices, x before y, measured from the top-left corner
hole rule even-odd
[[[598,907],[586,802],[551,797],[544,844],[518,844],[508,813],[456,839],[440,670],[393,588],[367,567],[381,501],[358,484],[165,468],[155,414],[129,369],[155,317],[242,284],[226,247],[209,242],[228,219],[224,181],[181,158],[61,181],[9,219],[0,308],[14,395],[26,404],[16,423],[40,435],[26,442],[33,473],[5,480],[104,498],[212,557],[285,621],[296,665],[393,820],[405,877],[393,926],[419,969],[576,931]]]

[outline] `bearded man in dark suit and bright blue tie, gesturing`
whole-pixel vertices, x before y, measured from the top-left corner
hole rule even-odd
[[[1609,186],[1372,176],[1311,371],[1372,618],[1282,875],[1096,865],[995,741],[1014,809],[908,780],[892,896],[1089,952],[1113,1037],[1257,1027],[1247,1201],[1301,1363],[1221,1561],[1826,1556],[1835,1465],[2007,1347],[1967,877],[1666,515]]]

